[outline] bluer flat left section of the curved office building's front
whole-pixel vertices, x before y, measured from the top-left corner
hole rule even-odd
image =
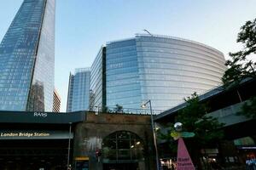
[[[136,39],[107,44],[107,105],[139,109],[142,103]]]

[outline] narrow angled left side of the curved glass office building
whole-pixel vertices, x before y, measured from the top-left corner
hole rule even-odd
[[[90,67],[90,111],[106,106],[106,47],[102,47]]]

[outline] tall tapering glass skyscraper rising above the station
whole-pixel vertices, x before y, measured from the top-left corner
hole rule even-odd
[[[52,111],[55,0],[24,0],[0,44],[0,110]]]

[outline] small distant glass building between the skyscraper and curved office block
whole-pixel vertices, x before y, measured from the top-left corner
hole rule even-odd
[[[75,70],[74,75],[70,75],[67,111],[85,111],[89,109],[90,96],[90,68],[80,68]]]

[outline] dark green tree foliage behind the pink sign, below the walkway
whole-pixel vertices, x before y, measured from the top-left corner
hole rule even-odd
[[[185,101],[187,106],[178,112],[176,121],[183,123],[183,131],[194,132],[193,140],[201,146],[221,139],[223,133],[218,129],[224,124],[219,123],[217,118],[207,116],[207,104],[201,104],[197,94],[192,94]]]

